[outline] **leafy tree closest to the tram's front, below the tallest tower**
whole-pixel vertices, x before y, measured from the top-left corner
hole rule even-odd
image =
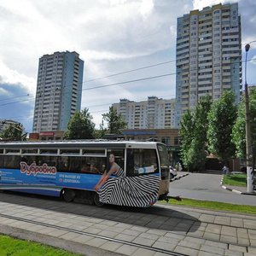
[[[202,97],[195,110],[188,110],[181,121],[181,159],[190,172],[203,169],[207,160],[207,113],[211,104],[211,96]]]

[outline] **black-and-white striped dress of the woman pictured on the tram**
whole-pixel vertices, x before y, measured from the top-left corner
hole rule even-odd
[[[109,177],[99,191],[100,201],[125,207],[148,207],[158,199],[160,177],[125,177],[122,168]]]

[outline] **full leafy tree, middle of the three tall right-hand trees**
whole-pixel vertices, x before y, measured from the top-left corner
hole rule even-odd
[[[234,93],[231,90],[224,90],[218,101],[213,102],[208,114],[208,148],[218,160],[225,163],[235,155],[235,144],[231,141],[231,134],[236,122],[236,111]]]

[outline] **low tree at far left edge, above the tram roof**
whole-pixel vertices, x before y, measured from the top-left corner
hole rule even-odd
[[[7,128],[0,133],[0,137],[3,140],[10,141],[25,141],[26,140],[26,131],[21,124],[9,124]]]

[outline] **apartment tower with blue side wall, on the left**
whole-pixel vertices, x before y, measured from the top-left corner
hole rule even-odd
[[[33,132],[66,131],[81,108],[84,61],[76,52],[55,52],[39,59]]]

